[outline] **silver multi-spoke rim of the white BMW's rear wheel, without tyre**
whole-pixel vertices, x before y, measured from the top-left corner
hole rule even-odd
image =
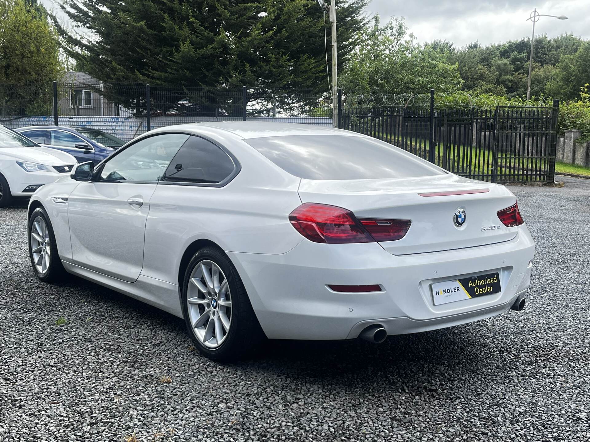
[[[219,347],[230,331],[232,309],[230,286],[215,262],[202,260],[192,270],[186,302],[196,338],[205,347]]]

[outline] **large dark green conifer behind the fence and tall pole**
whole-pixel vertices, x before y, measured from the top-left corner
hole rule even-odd
[[[367,2],[337,2],[340,67]],[[323,12],[311,0],[65,0],[64,11],[95,36],[59,28],[68,55],[107,83],[328,89]]]

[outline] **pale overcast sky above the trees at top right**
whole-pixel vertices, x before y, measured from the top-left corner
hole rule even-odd
[[[570,32],[590,38],[590,0],[372,0],[369,13],[404,17],[418,41],[444,39],[461,47],[478,40],[490,44],[529,37],[530,12],[566,15],[568,20],[541,17],[535,35],[549,37]]]

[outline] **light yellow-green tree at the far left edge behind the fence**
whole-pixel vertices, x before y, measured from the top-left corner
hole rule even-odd
[[[34,1],[0,0],[0,113],[50,112],[63,73],[58,35]]]

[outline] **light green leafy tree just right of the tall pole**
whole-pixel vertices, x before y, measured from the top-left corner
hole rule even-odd
[[[448,44],[417,44],[403,19],[381,26],[375,17],[373,26],[359,33],[340,84],[355,94],[451,92],[462,81],[457,66],[445,59],[448,50]]]

